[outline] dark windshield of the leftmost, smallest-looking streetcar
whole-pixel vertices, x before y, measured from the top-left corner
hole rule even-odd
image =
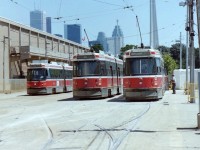
[[[46,69],[28,69],[27,80],[28,81],[41,81],[46,80],[47,70]]]

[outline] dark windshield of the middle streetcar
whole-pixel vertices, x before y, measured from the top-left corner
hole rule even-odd
[[[98,76],[100,75],[99,61],[75,61],[74,77]]]

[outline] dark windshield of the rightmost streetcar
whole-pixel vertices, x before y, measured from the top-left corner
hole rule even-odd
[[[125,63],[125,75],[154,75],[157,74],[155,58],[129,58]]]

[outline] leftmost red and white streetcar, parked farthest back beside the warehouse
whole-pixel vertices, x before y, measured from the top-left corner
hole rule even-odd
[[[27,94],[72,91],[72,66],[47,60],[33,61],[27,70]]]

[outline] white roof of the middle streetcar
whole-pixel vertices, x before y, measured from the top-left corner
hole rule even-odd
[[[85,52],[76,54],[73,56],[72,61],[94,61],[94,60],[102,60],[109,62],[116,62],[119,64],[123,64],[123,61],[117,57],[105,54],[105,53],[94,53],[94,52]]]

